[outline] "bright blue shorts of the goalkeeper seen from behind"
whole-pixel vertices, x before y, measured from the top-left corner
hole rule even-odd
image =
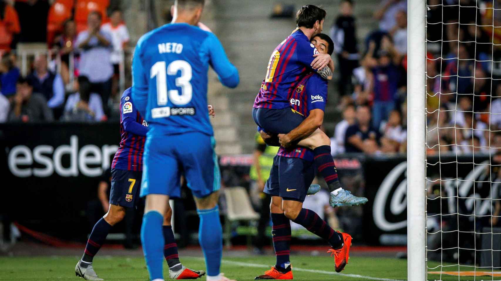
[[[148,134],[140,196],[163,194],[180,197],[181,175],[197,198],[218,191],[221,173],[214,147],[214,137],[200,132]]]

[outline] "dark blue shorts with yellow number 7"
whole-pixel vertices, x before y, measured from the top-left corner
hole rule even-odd
[[[136,207],[140,202],[142,171],[111,169],[110,204]]]

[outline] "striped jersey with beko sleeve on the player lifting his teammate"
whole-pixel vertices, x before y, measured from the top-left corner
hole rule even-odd
[[[313,109],[322,109],[325,111],[327,103],[327,80],[316,73],[310,73],[303,77],[297,83],[294,91],[289,95],[291,108],[298,114],[305,117],[310,115]],[[302,146],[290,149],[279,148],[277,155],[289,158],[301,158],[307,161],[313,161],[313,150]]]

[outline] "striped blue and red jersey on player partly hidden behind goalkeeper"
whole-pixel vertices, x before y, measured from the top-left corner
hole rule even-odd
[[[111,168],[129,171],[143,170],[143,152],[148,123],[132,102],[131,88],[120,99],[120,147],[115,153]]]

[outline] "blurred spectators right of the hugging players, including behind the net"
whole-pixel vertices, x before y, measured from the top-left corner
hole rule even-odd
[[[501,147],[501,134],[495,132],[501,128],[501,99],[497,98],[501,96],[501,48],[496,45],[501,35],[497,27],[501,1],[465,0],[461,7],[454,0],[427,4],[428,154],[495,153]],[[331,139],[332,147],[337,146],[332,154],[404,153],[406,1],[381,1],[374,11],[379,28],[363,44],[356,41],[354,7],[354,2],[342,1],[331,30],[343,116]],[[364,56],[358,56],[357,46],[365,48]]]

